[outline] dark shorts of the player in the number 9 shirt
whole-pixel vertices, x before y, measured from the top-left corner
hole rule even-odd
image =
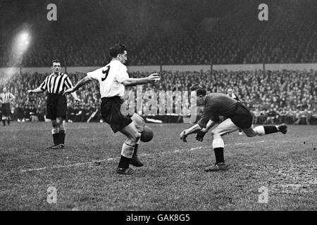
[[[121,113],[123,100],[121,100],[120,96],[101,99],[101,117],[106,123],[110,124],[114,133],[127,127],[132,122],[130,118],[132,115],[123,115]]]

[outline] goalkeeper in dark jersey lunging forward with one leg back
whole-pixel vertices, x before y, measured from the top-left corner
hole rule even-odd
[[[197,141],[203,141],[205,134],[213,127],[218,124],[219,116],[227,117],[228,119],[220,122],[218,127],[211,131],[213,136],[213,151],[216,157],[215,165],[206,167],[206,172],[213,172],[218,170],[228,169],[225,165],[223,156],[223,149],[225,143],[221,136],[224,134],[232,133],[237,129],[242,129],[244,134],[249,137],[262,136],[265,134],[273,134],[282,132],[286,134],[286,124],[271,125],[271,126],[258,126],[253,128],[252,126],[252,115],[242,103],[235,99],[221,93],[211,93],[206,95],[206,90],[200,87],[194,87],[191,91],[195,91],[197,94],[197,105],[204,105],[204,113],[197,124],[182,131],[180,139],[187,142],[186,138],[189,134],[197,133]]]

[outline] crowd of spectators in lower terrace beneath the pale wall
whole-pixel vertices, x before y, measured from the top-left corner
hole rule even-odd
[[[149,98],[144,98],[148,91],[188,91],[193,84],[206,88],[207,92],[226,93],[232,88],[242,103],[251,109],[254,115],[254,124],[317,124],[317,72],[310,70],[255,70],[255,71],[227,71],[213,70],[212,72],[167,72],[162,71],[159,84],[144,84],[142,86],[143,108],[137,108],[139,115],[149,115],[151,106]],[[130,77],[144,77],[146,73],[132,72]],[[76,84],[84,74],[72,75],[70,79]],[[27,122],[45,120],[46,94],[28,96],[28,89],[35,89],[44,80],[43,74],[14,75],[6,84],[9,92],[15,95],[15,102],[11,103],[13,120]],[[80,103],[75,103],[68,96],[68,122],[87,122],[89,117],[99,109],[101,102],[99,84],[90,82],[83,86],[77,95]],[[137,98],[136,87],[129,87],[132,96]],[[131,92],[130,92],[131,93]],[[167,93],[167,92],[165,92]],[[131,96],[126,94],[126,96]],[[133,100],[135,99],[133,98]],[[130,98],[131,100],[131,98]],[[178,98],[173,98],[173,115],[180,116],[175,110]],[[135,101],[139,103],[139,99]],[[167,112],[165,112],[167,113]],[[201,112],[199,112],[201,113]],[[185,115],[186,117],[187,115]],[[90,121],[100,121],[99,111],[90,118]],[[181,122],[180,117],[174,122]]]

